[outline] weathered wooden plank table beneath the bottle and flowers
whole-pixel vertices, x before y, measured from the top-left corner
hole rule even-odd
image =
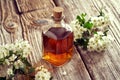
[[[35,20],[49,18],[54,6],[62,6],[65,21],[70,23],[76,15],[87,13],[98,15],[105,6],[110,13],[109,34],[115,39],[105,53],[87,53],[75,49],[72,60],[60,67],[40,61],[41,26],[33,25]],[[9,27],[17,27],[9,30]],[[25,39],[33,47],[31,63],[47,65],[52,69],[53,80],[120,80],[120,0],[0,0],[0,44]],[[38,56],[38,57],[35,57]],[[33,64],[34,65],[34,64]],[[66,75],[63,75],[63,72]]]

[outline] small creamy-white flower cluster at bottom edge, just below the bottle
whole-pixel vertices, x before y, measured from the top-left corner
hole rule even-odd
[[[36,71],[38,72],[35,75],[35,80],[50,80],[51,74],[44,66],[37,67]]]

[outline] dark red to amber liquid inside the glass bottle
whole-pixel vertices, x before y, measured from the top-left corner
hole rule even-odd
[[[50,28],[43,34],[43,59],[55,66],[69,61],[73,55],[73,32],[65,28]]]

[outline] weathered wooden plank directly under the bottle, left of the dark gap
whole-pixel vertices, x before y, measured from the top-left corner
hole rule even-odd
[[[42,55],[42,36],[40,25],[33,24],[34,21],[42,18],[50,18],[52,14],[52,8],[49,10],[41,9],[32,11],[29,13],[23,13],[21,15],[21,22],[23,24],[24,38],[29,40],[33,46],[33,53],[30,56],[32,63],[43,63],[41,60]],[[44,63],[45,64],[45,63]],[[48,63],[46,64],[48,65]],[[48,67],[51,67],[48,65]],[[58,68],[52,68],[53,80],[91,80],[78,52],[75,50],[73,59],[66,65]],[[63,75],[63,71],[67,72],[67,75]],[[71,73],[72,71],[72,73]]]

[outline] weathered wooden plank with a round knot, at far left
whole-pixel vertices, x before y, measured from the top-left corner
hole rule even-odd
[[[0,0],[1,44],[11,43],[15,39],[22,39],[20,19],[14,4],[14,0]],[[10,28],[13,27],[17,28],[11,30]]]

